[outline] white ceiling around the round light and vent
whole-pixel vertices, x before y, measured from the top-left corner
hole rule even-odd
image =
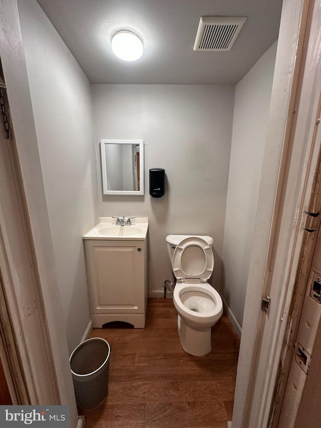
[[[91,83],[235,84],[278,37],[282,0],[38,0]],[[201,16],[245,16],[227,52],[194,51]],[[131,30],[142,57],[115,57]]]

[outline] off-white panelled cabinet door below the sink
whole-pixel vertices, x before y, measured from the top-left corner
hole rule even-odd
[[[144,313],[144,252],[144,241],[85,241],[92,314]]]

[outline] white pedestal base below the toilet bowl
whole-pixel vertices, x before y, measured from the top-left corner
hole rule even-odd
[[[178,315],[177,319],[181,345],[185,352],[196,357],[203,357],[212,350],[211,327],[197,330],[186,324]]]

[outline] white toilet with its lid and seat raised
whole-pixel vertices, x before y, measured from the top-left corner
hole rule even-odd
[[[167,249],[177,283],[173,302],[185,352],[203,356],[211,352],[211,327],[223,313],[218,292],[207,282],[213,272],[213,238],[168,235]]]

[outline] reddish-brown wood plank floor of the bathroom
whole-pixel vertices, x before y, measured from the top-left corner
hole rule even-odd
[[[223,314],[212,352],[181,347],[172,299],[149,299],[145,329],[94,329],[111,347],[109,391],[85,411],[86,428],[226,428],[232,418],[239,338]]]

